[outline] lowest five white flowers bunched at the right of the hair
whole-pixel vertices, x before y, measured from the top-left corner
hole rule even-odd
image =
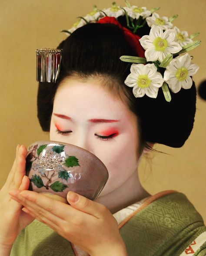
[[[133,94],[136,98],[145,94],[150,98],[156,98],[158,89],[166,82],[173,93],[177,93],[181,88],[190,89],[193,81],[191,76],[196,74],[199,67],[191,63],[189,54],[175,57],[166,66],[164,75],[157,71],[158,64],[164,61],[169,55],[178,55],[184,46],[193,42],[188,38],[186,31],[181,32],[177,27],[171,29],[173,24],[167,17],[159,17],[153,13],[152,17],[146,18],[150,29],[149,35],[144,35],[140,39],[140,44],[146,50],[147,62],[152,64],[132,64],[130,74],[125,80],[125,84],[133,87]]]

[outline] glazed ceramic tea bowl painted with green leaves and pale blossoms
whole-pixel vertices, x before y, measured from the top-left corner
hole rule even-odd
[[[69,191],[95,199],[109,177],[106,166],[91,152],[58,141],[37,141],[28,148],[29,190],[66,202]]]

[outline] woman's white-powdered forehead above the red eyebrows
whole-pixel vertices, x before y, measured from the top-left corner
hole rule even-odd
[[[53,111],[85,118],[136,118],[119,96],[101,85],[98,78],[64,80],[56,92]]]

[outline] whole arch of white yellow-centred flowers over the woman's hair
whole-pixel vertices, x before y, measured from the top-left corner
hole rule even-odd
[[[128,3],[128,1],[126,2]],[[95,6],[91,13],[81,17],[67,31],[71,34],[86,23],[96,22],[105,16],[118,18],[125,15],[132,22],[133,29],[134,31],[137,30],[137,34],[138,28],[143,27],[145,23],[151,27],[150,34],[144,35],[140,39],[140,44],[146,50],[145,58],[147,64],[132,64],[131,73],[125,80],[127,86],[133,87],[134,96],[137,98],[146,94],[150,98],[156,98],[158,90],[163,86],[163,83],[168,84],[170,90],[174,93],[181,88],[191,88],[193,84],[191,76],[196,74],[199,67],[191,63],[189,54],[179,55],[179,52],[188,44],[193,43],[193,40],[188,37],[186,31],[180,31],[179,28],[173,27],[171,21],[177,15],[168,19],[168,17],[159,17],[159,14],[153,12],[153,10],[147,10],[146,7],[131,6],[130,4],[127,4],[127,7],[120,7],[113,2],[112,7],[103,10],[98,10]],[[138,23],[138,21],[142,21],[142,24]],[[129,28],[131,29],[132,27]],[[173,55],[177,55],[177,57],[172,61],[170,60],[169,64],[164,67],[164,74],[160,74],[159,66],[163,67],[161,63],[168,56],[173,58]]]

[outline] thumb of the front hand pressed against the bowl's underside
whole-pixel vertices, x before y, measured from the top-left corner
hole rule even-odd
[[[83,195],[76,194],[73,191],[67,193],[67,201],[73,208],[89,213],[98,219],[103,218],[105,213],[109,211],[104,205],[94,202]]]

